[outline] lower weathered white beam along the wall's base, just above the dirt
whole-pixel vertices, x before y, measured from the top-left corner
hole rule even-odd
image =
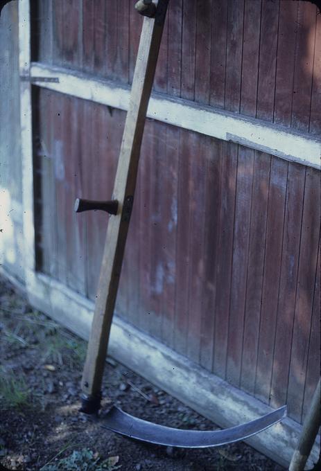
[[[36,272],[27,272],[26,287],[35,308],[88,339],[94,310],[92,301]],[[272,411],[263,402],[208,373],[119,317],[114,317],[112,323],[108,353],[220,427],[233,427]],[[301,430],[300,424],[285,418],[246,442],[287,466]],[[311,466],[318,461],[319,445],[317,440],[309,459]]]

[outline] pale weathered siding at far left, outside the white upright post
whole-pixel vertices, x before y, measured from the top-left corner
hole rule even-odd
[[[0,17],[0,268],[24,280],[18,5]]]

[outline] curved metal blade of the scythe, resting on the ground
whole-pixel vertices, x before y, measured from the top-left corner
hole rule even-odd
[[[183,448],[218,447],[258,434],[271,425],[286,417],[286,406],[266,414],[266,416],[251,420],[242,425],[236,425],[223,430],[182,430],[164,427],[141,418],[130,416],[114,406],[103,420],[102,427],[117,434],[129,436],[136,440]]]

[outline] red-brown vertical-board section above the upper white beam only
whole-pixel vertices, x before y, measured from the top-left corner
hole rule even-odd
[[[40,1],[37,59],[130,83],[141,30],[134,3]],[[155,89],[320,134],[320,30],[305,1],[175,0]]]

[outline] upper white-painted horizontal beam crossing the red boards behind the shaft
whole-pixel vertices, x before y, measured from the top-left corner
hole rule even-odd
[[[121,86],[118,82],[38,62],[31,66],[31,77],[35,80],[33,83],[46,89],[118,109],[128,109],[130,87]],[[46,82],[37,78],[58,78],[59,82]],[[153,93],[150,98],[147,115],[157,121],[243,144],[281,159],[319,170],[321,168],[321,139],[288,127],[157,93]]]

